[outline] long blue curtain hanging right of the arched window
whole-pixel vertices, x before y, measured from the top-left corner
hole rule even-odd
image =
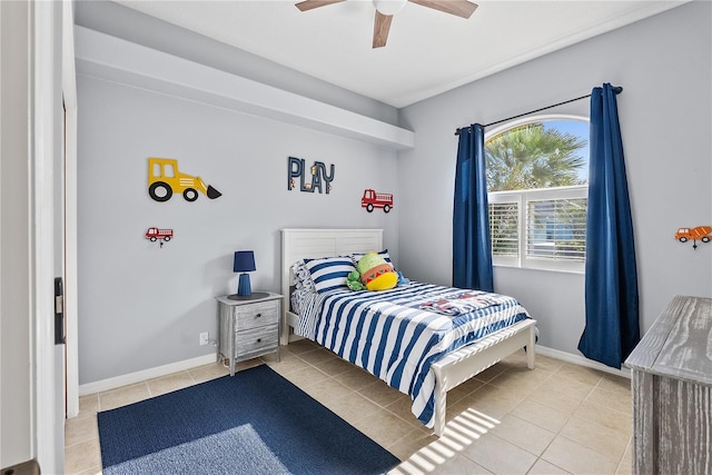
[[[605,83],[591,93],[586,326],[578,342],[587,358],[616,368],[640,340],[633,220],[615,100],[621,90]]]

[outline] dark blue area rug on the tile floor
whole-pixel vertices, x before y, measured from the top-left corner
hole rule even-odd
[[[399,463],[266,365],[98,422],[105,475],[382,474]]]

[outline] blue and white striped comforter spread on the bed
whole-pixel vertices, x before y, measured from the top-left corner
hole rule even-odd
[[[413,414],[433,427],[431,364],[525,318],[512,297],[411,283],[384,291],[304,296],[296,333],[408,394]]]

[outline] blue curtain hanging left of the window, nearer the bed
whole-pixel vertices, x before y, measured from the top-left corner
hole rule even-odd
[[[453,286],[494,291],[485,175],[485,132],[459,130],[453,214]]]

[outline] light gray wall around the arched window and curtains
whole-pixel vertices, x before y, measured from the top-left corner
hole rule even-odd
[[[635,228],[641,326],[676,294],[712,297],[712,244],[673,240],[712,225],[712,4],[692,2],[402,110],[416,148],[398,158],[398,255],[406,275],[449,284],[455,128],[623,86],[619,113]],[[472,51],[476,55],[476,48]],[[550,112],[589,115],[586,100]],[[433,232],[437,229],[437,232]],[[427,258],[424,258],[427,256]],[[584,276],[495,269],[495,290],[538,320],[540,344],[578,354]]]

